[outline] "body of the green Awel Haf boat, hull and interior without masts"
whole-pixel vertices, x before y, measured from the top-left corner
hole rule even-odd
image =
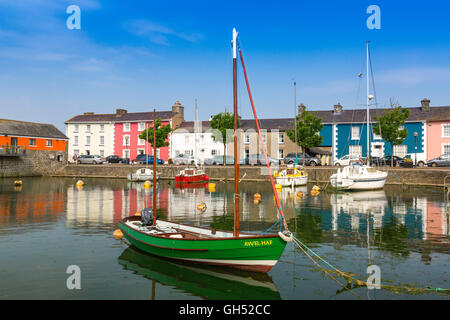
[[[279,234],[218,231],[163,220],[142,227],[141,217],[119,222],[124,237],[138,249],[165,258],[268,272],[286,246]]]

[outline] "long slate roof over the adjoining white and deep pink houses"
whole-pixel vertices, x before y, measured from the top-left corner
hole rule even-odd
[[[156,119],[169,120],[175,115],[172,111],[156,111]],[[135,122],[152,121],[153,112],[127,112],[121,115],[116,113],[108,114],[81,114],[70,118],[64,123],[82,122]]]

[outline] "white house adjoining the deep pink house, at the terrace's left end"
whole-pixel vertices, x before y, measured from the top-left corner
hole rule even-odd
[[[73,161],[74,155],[107,157],[114,154],[114,123],[102,116],[85,112],[65,122],[66,136],[69,138],[69,161]]]

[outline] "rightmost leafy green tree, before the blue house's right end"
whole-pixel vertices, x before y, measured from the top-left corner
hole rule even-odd
[[[386,111],[381,117],[374,117],[377,123],[373,126],[374,132],[380,132],[381,137],[391,145],[391,167],[394,166],[394,146],[402,144],[408,136],[404,126],[409,117],[409,110],[401,106]]]

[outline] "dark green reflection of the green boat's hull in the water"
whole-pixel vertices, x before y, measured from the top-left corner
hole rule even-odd
[[[143,253],[134,247],[125,249],[118,260],[127,270],[204,299],[281,299],[266,273],[184,264]]]

